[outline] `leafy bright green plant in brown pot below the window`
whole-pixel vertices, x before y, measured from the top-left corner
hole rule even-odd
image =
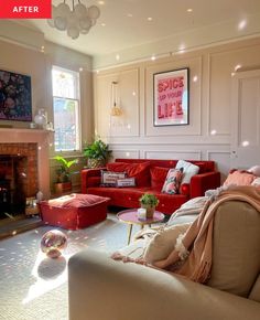
[[[77,159],[67,161],[62,156],[56,156],[54,159],[59,162],[59,167],[56,169],[57,179],[56,183],[54,184],[55,193],[61,194],[63,192],[71,191],[72,190],[71,167],[77,163]]]

